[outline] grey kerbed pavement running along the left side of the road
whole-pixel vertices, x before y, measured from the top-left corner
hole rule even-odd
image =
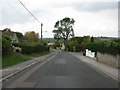
[[[40,61],[45,60],[48,57],[51,57],[54,54],[55,54],[55,52],[52,52],[48,55],[44,55],[44,56],[41,56],[41,57],[31,57],[32,60],[13,65],[12,67],[9,67],[9,68],[6,68],[6,69],[2,69],[2,79],[1,80],[5,80],[5,79],[17,74],[18,72],[36,64],[36,63],[38,63]]]

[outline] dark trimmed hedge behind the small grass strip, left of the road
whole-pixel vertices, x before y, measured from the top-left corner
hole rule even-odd
[[[31,53],[40,53],[44,51],[49,51],[49,47],[43,44],[36,44],[36,45],[28,45],[28,44],[21,44],[22,53],[23,54],[31,54]]]

